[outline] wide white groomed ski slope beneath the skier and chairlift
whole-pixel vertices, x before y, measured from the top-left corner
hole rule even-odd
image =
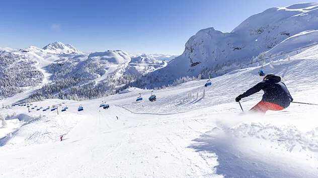
[[[317,52],[313,47],[290,61],[273,61],[274,69],[264,71],[284,77],[294,101],[318,104]],[[1,109],[16,116],[0,128],[6,135],[0,138],[0,177],[316,177],[317,106],[291,103],[264,116],[239,114],[234,98],[262,80],[259,69],[232,71],[209,87],[200,80],[156,90],[154,102],[147,99],[151,90],[129,88],[97,100],[32,103],[64,102],[68,109],[59,108],[59,115],[28,113],[26,106]],[[261,96],[244,98],[243,109]],[[100,108],[102,101],[110,108]]]

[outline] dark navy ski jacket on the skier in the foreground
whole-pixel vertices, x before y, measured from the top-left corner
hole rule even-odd
[[[286,85],[281,81],[281,77],[275,75],[267,77],[266,80],[256,84],[240,97],[245,98],[261,90],[264,91],[262,101],[274,103],[283,108],[288,107],[290,102],[293,101]]]

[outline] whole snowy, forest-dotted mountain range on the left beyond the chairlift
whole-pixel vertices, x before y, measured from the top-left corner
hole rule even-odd
[[[0,53],[0,64],[3,64],[0,66],[0,84],[6,87],[0,88],[0,98],[41,86],[42,92],[35,92],[30,98],[64,98],[70,93],[73,98],[102,96],[167,65],[167,62],[148,55],[135,56],[120,50],[84,54],[61,42],[51,43],[43,49],[34,46],[5,49]],[[90,84],[90,88],[81,88],[82,94],[79,94],[76,87],[82,84]],[[95,88],[95,94],[84,94],[84,91],[93,91],[92,88]]]

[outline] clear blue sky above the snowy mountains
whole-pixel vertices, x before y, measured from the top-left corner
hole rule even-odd
[[[314,1],[313,1],[314,2]],[[230,32],[253,14],[293,0],[2,1],[0,47],[60,41],[83,52],[180,55],[201,29]]]

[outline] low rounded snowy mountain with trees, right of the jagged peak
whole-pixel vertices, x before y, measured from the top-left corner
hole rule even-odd
[[[108,75],[116,75],[117,77],[125,74],[139,76],[166,65],[166,62],[158,61],[151,56],[134,56],[121,50],[108,50],[91,53],[87,60],[76,66],[75,75],[83,76],[87,73],[101,81]]]

